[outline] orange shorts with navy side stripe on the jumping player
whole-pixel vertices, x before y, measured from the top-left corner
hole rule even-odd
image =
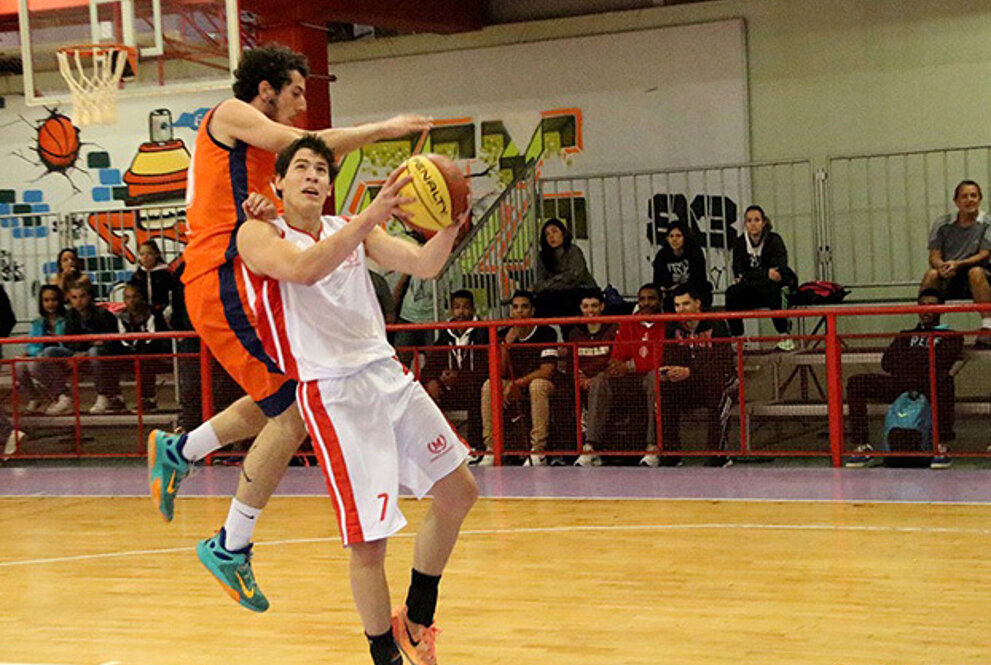
[[[296,401],[296,382],[265,353],[245,304],[241,261],[235,258],[186,285],[189,320],[210,352],[269,418]]]

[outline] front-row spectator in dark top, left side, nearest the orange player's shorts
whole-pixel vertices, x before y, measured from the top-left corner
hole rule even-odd
[[[117,313],[117,331],[125,333],[153,333],[168,330],[165,317],[161,312],[152,309],[145,301],[144,290],[135,284],[124,287],[124,309]],[[141,353],[160,354],[169,352],[169,343],[162,339],[136,339],[116,342],[116,352],[121,355]],[[127,361],[127,366],[133,367],[133,361]],[[157,358],[141,362],[141,408],[143,411],[154,411],[158,408],[155,395],[155,378],[159,372],[172,370],[172,365]]]

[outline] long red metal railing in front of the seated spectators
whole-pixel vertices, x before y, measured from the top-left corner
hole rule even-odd
[[[893,329],[895,326],[893,323],[889,324],[890,317],[895,315],[912,315],[917,314],[923,309],[931,309],[939,313],[960,313],[960,312],[989,312],[991,311],[991,305],[943,305],[931,308],[923,308],[917,305],[900,305],[900,306],[884,306],[884,307],[869,307],[869,306],[843,306],[843,307],[821,307],[821,308],[807,308],[800,310],[785,310],[785,311],[757,311],[757,312],[712,312],[712,313],[702,313],[693,315],[677,315],[677,314],[664,314],[657,316],[612,316],[612,317],[601,317],[597,321],[600,323],[621,323],[623,321],[654,321],[658,323],[666,323],[678,320],[687,319],[760,319],[760,318],[772,318],[772,317],[786,317],[790,319],[799,318],[812,318],[812,319],[823,319],[825,321],[825,334],[824,335],[794,335],[793,339],[802,342],[806,349],[809,349],[816,345],[821,345],[822,355],[824,356],[824,371],[825,371],[825,405],[826,405],[826,422],[828,425],[828,447],[824,450],[820,449],[787,449],[786,447],[766,447],[758,448],[754,445],[754,440],[752,433],[749,431],[749,423],[753,419],[753,414],[751,413],[751,391],[748,390],[748,379],[747,379],[747,363],[748,360],[753,357],[767,357],[767,354],[760,356],[760,354],[750,353],[747,350],[748,344],[758,344],[758,345],[771,345],[778,341],[780,338],[774,337],[745,337],[728,339],[724,343],[732,345],[735,371],[737,374],[737,380],[739,386],[737,388],[737,396],[734,411],[737,414],[739,422],[739,445],[738,446],[728,446],[728,450],[725,451],[714,451],[710,449],[701,450],[665,450],[663,444],[663,428],[664,428],[664,414],[660,408],[660,394],[656,391],[657,397],[655,397],[653,414],[654,424],[656,427],[656,437],[655,441],[659,448],[657,454],[663,456],[704,456],[711,455],[715,452],[721,454],[730,455],[746,455],[754,457],[788,457],[788,456],[828,456],[834,466],[838,466],[842,463],[844,455],[850,453],[845,442],[844,433],[844,414],[843,414],[843,356],[846,352],[844,350],[844,344],[854,342],[856,340],[870,340],[870,339],[890,339],[893,333],[871,333],[871,334],[842,334],[840,332],[840,324],[842,321],[851,320],[854,317],[872,317],[873,329],[883,329],[889,328]],[[518,320],[500,320],[500,321],[471,321],[463,323],[455,322],[442,322],[442,323],[431,323],[431,324],[402,324],[396,326],[390,326],[390,330],[437,330],[442,328],[453,328],[453,329],[464,329],[469,327],[480,328],[484,327],[488,330],[489,341],[485,348],[488,355],[488,379],[490,384],[495,386],[501,386],[502,383],[502,372],[500,367],[500,349],[502,347],[501,342],[497,338],[496,331],[500,328],[509,325],[517,325],[521,323],[525,324],[537,324],[537,325],[547,325],[547,324],[575,324],[579,322],[585,322],[581,319],[532,319],[527,321]],[[963,333],[957,333],[963,334]],[[139,340],[139,339],[164,339],[164,340],[174,340],[174,339],[189,339],[196,338],[195,333],[186,332],[170,332],[170,333],[157,333],[150,335],[101,335],[101,336],[58,336],[50,338],[40,338],[40,337],[19,337],[19,338],[8,338],[0,340],[0,344],[4,346],[13,344],[27,344],[27,343],[59,343],[64,344],[67,342],[93,342],[93,341],[114,341],[114,340]],[[675,344],[672,340],[665,340],[662,345]],[[596,342],[597,345],[601,345],[601,342]],[[568,363],[565,365],[565,375],[570,382],[569,390],[571,392],[567,393],[567,396],[571,398],[569,400],[569,408],[574,409],[575,425],[574,425],[574,443],[573,445],[568,445],[566,447],[558,447],[556,449],[548,449],[546,453],[548,455],[568,455],[575,456],[581,453],[582,445],[584,443],[584,433],[581,424],[581,411],[582,411],[582,397],[581,389],[579,385],[579,375],[578,366],[579,359],[577,348],[578,345],[575,343],[562,343],[558,346],[568,348],[570,350]],[[421,347],[420,352],[424,353],[445,353],[449,347],[440,347],[435,349],[427,349]],[[810,351],[806,351],[811,353]],[[818,353],[818,349],[815,351]],[[660,352],[663,356],[663,350]],[[929,365],[930,365],[930,395],[932,400],[932,410],[934,414],[939,413],[941,408],[939,403],[939,397],[937,396],[937,376],[936,376],[936,363],[935,363],[935,345],[930,341],[929,344]],[[94,359],[88,357],[72,357],[72,358],[53,358],[53,359],[31,359],[26,360],[24,358],[11,358],[10,353],[4,354],[6,357],[0,360],[0,367],[6,367],[9,369],[11,374],[14,372],[14,365],[23,362],[61,362],[68,363],[72,370],[72,394],[73,394],[73,414],[72,414],[72,429],[73,429],[73,445],[71,452],[54,452],[54,453],[39,453],[32,452],[31,446],[28,445],[24,450],[18,451],[19,457],[32,458],[32,457],[138,457],[145,454],[144,451],[144,433],[146,430],[147,414],[143,412],[141,404],[141,372],[142,361],[148,361],[152,359],[159,360],[174,360],[178,358],[197,358],[199,360],[200,368],[200,398],[202,400],[202,417],[204,419],[209,418],[214,414],[214,404],[213,404],[213,388],[212,388],[212,372],[211,369],[211,357],[209,352],[205,347],[202,347],[198,354],[195,353],[163,353],[163,354],[130,354],[130,355],[120,355],[120,356],[109,356],[96,359],[99,360],[111,360],[113,362],[132,362],[134,366],[135,373],[135,384],[138,391],[137,408],[136,413],[131,414],[135,417],[136,433],[138,437],[138,443],[133,448],[121,452],[94,452],[87,450],[86,446],[83,445],[83,432],[87,427],[87,416],[81,413],[79,406],[79,387],[80,387],[80,365],[93,362]],[[414,360],[411,366],[419,377],[421,373],[420,366],[420,353],[416,353],[413,356]],[[428,359],[429,365],[429,359]],[[777,362],[777,361],[775,361]],[[4,371],[7,371],[5,369]],[[803,379],[805,377],[803,376]],[[659,378],[655,378],[655,381],[659,381]],[[656,386],[655,386],[656,387]],[[776,386],[775,386],[776,387]],[[804,385],[803,381],[803,392],[807,390],[807,386]],[[987,390],[984,394],[991,395],[991,385],[987,386]],[[480,399],[480,397],[479,397]],[[20,395],[18,391],[17,381],[12,381],[11,388],[11,420],[13,426],[16,429],[23,429],[22,425],[26,422],[24,420],[24,415],[20,410]],[[504,459],[510,459],[513,457],[520,457],[528,455],[529,451],[526,450],[526,446],[521,450],[511,450],[506,446],[506,421],[504,418],[503,409],[503,394],[502,390],[493,389],[491,391],[491,403],[489,404],[492,415],[492,448],[495,454],[496,463],[502,463]],[[66,420],[69,420],[67,417]],[[936,420],[934,416],[934,421]],[[30,421],[30,418],[28,419]],[[59,421],[61,422],[61,421]],[[942,443],[941,437],[944,433],[939,432],[939,428],[934,428],[934,441],[933,441],[933,451],[938,450]],[[476,445],[479,442],[473,442]],[[603,442],[599,442],[600,444]],[[2,442],[0,442],[2,444]],[[618,448],[618,447],[617,447]],[[644,450],[642,448],[636,450],[629,449],[615,449],[611,450],[608,447],[603,447],[602,450],[597,451],[605,454],[615,454],[617,456],[636,456],[642,455]],[[909,456],[912,453],[899,453],[907,454]],[[919,456],[926,454],[933,454],[933,452],[919,452],[916,453]],[[985,455],[983,449],[980,451],[954,451],[954,456],[982,456]],[[880,454],[883,456],[883,454]]]

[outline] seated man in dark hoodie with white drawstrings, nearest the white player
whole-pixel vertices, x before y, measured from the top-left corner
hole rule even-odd
[[[477,321],[475,296],[467,289],[451,294],[450,321]],[[482,445],[482,409],[479,396],[489,376],[487,328],[444,328],[437,331],[435,347],[448,350],[427,356],[420,380],[445,411],[468,412],[468,443]],[[483,348],[470,348],[480,346]]]

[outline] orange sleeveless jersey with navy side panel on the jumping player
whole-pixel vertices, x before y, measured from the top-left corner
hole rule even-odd
[[[275,195],[275,154],[237,141],[233,148],[210,134],[214,107],[196,133],[186,187],[189,244],[183,253],[182,281],[216,270],[237,256],[237,230],[244,221],[241,204],[252,192],[263,194],[281,209]]]

